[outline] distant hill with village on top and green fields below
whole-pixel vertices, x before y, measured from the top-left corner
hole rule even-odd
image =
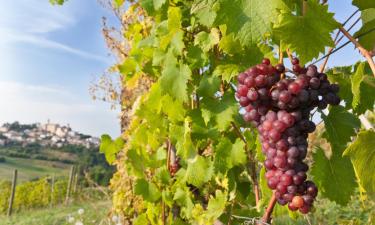
[[[99,139],[59,124],[6,123],[0,126],[0,180],[18,169],[20,181],[68,176],[76,165],[99,184],[108,183],[114,168],[99,153]]]

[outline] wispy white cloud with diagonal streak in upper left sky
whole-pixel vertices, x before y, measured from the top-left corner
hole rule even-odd
[[[65,6],[64,6],[65,7]],[[78,7],[78,5],[75,5]],[[109,59],[94,53],[47,38],[56,31],[76,24],[73,7],[51,6],[48,1],[7,1],[0,7],[0,49],[17,48],[17,43],[27,43],[41,48],[54,49],[85,59],[108,63]]]

